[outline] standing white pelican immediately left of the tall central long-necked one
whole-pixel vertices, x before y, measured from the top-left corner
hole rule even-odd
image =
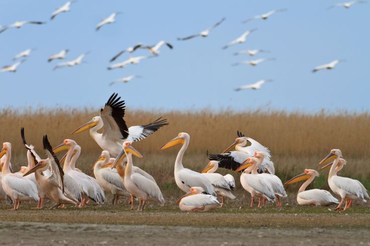
[[[126,190],[131,194],[131,202],[134,203],[133,197],[137,197],[140,200],[138,211],[144,209],[146,201],[154,201],[163,206],[164,198],[158,185],[150,179],[133,172],[132,155],[139,158],[143,158],[143,156],[131,146],[129,141],[124,142],[122,146],[123,150],[118,155],[112,167],[120,163],[124,156],[127,157],[127,166],[123,183]]]

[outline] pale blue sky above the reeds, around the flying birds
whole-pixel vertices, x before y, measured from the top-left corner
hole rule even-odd
[[[47,21],[0,34],[0,65],[37,48],[16,73],[0,73],[2,106],[99,107],[113,92],[128,108],[213,109],[257,108],[313,112],[369,109],[368,14],[370,4],[326,10],[337,1],[87,1],[78,0],[71,11],[50,21],[51,13],[65,0],[3,0],[0,24]],[[287,12],[268,20],[241,22],[273,9]],[[120,11],[116,23],[96,32],[101,19]],[[177,41],[198,33],[223,17],[226,21],[207,38]],[[247,42],[227,50],[221,47],[249,29],[257,28]],[[108,62],[121,49],[138,42],[153,45],[165,40],[160,55],[140,64],[108,71]],[[51,54],[68,48],[66,60],[90,51],[87,63],[53,71],[59,61]],[[266,49],[255,58],[276,58],[256,67],[231,64],[250,57],[234,56],[243,49]],[[146,55],[146,50],[133,56]],[[124,54],[118,61],[128,58]],[[346,59],[334,70],[311,73],[321,64]],[[143,78],[108,86],[131,74]],[[235,92],[234,88],[260,79],[273,79],[260,90]]]

